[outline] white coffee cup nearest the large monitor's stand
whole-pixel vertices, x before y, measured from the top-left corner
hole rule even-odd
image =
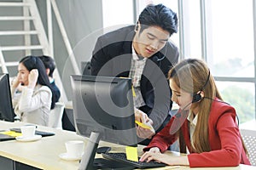
[[[84,152],[84,141],[82,140],[70,140],[65,143],[67,156],[69,157],[81,157]]]

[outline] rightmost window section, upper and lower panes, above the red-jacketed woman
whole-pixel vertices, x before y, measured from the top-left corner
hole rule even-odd
[[[206,2],[207,63],[224,100],[236,108],[240,122],[248,122],[255,118],[253,1]]]

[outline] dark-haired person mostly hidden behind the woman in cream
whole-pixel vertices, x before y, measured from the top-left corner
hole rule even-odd
[[[55,103],[59,101],[61,97],[60,89],[55,84],[55,79],[53,78],[53,72],[55,71],[55,60],[49,56],[42,55],[39,58],[43,61],[46,74],[49,77],[49,83],[51,88],[53,89],[52,94],[55,95]]]

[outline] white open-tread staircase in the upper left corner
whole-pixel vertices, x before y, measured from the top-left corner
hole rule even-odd
[[[9,66],[15,66],[18,65],[19,62],[7,62],[5,61],[4,58],[8,57],[9,55],[5,56],[5,54],[3,54],[3,52],[8,52],[8,51],[20,51],[20,50],[25,50],[26,51],[26,55],[27,54],[31,54],[31,50],[32,49],[41,49],[43,51],[44,54],[49,54],[48,50],[49,50],[49,44],[48,44],[48,40],[46,37],[46,34],[44,32],[44,26],[42,24],[40,15],[38,14],[38,8],[36,6],[35,1],[33,0],[24,0],[21,3],[17,3],[17,2],[0,2],[0,7],[1,8],[5,8],[5,7],[20,7],[25,9],[27,11],[27,15],[11,15],[11,16],[0,16],[0,21],[11,21],[11,22],[15,22],[15,21],[23,21],[24,22],[24,26],[25,23],[29,23],[31,21],[33,21],[35,30],[31,30],[31,28],[27,28],[25,31],[14,31],[14,30],[7,30],[7,31],[0,31],[0,36],[4,37],[4,36],[24,36],[25,37],[25,44],[23,45],[3,45],[1,44],[1,50],[0,50],[0,66],[2,67],[2,71],[5,73],[8,73],[8,67]],[[25,10],[23,10],[24,12]],[[30,15],[29,15],[30,13]],[[29,38],[31,38],[32,35],[36,35],[38,36],[38,42],[39,44],[36,45],[32,45],[30,42],[27,43],[26,40]],[[17,41],[20,42],[20,41]],[[8,59],[7,59],[8,60]]]

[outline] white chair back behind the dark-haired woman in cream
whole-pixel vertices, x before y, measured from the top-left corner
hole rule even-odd
[[[61,102],[55,103],[55,108],[49,113],[49,127],[62,129],[62,116],[65,105]]]

